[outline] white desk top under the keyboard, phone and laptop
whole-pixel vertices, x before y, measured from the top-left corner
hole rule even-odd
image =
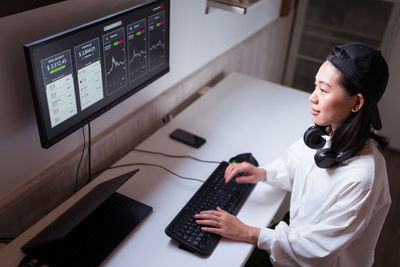
[[[146,139],[138,148],[207,160],[228,160],[232,155],[252,152],[262,165],[285,156],[287,147],[312,123],[308,94],[241,74],[230,74],[171,122]],[[205,137],[194,149],[169,138],[176,128]],[[190,159],[131,152],[116,164],[148,162],[160,164],[188,177],[206,179],[216,164]],[[95,184],[134,167],[112,169],[68,199],[0,251],[2,266],[17,266],[23,257],[20,247],[54,220]],[[104,266],[241,266],[253,246],[223,238],[210,257],[178,248],[164,229],[201,183],[182,180],[162,169],[139,167],[120,193],[154,208],[153,212],[103,262]],[[266,184],[256,188],[238,217],[249,225],[267,226],[281,205],[285,192]]]

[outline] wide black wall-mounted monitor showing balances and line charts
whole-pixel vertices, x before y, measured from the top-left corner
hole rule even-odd
[[[169,71],[169,0],[146,1],[24,50],[48,148]]]

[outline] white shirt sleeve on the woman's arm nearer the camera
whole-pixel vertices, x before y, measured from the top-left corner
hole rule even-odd
[[[370,188],[353,183],[316,224],[299,227],[280,222],[261,229],[257,246],[279,266],[326,266],[367,226],[373,208]]]

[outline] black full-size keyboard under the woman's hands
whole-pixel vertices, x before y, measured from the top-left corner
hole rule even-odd
[[[225,183],[224,173],[228,162],[221,162],[205,183],[186,203],[178,215],[165,229],[165,233],[178,241],[181,247],[209,256],[217,246],[220,235],[200,230],[194,215],[202,210],[215,210],[217,207],[236,215],[255,184],[237,184],[232,179]],[[243,174],[239,174],[240,176]]]

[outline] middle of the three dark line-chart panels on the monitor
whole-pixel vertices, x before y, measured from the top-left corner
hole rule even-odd
[[[129,81],[134,81],[147,73],[146,19],[129,24],[127,33]]]

